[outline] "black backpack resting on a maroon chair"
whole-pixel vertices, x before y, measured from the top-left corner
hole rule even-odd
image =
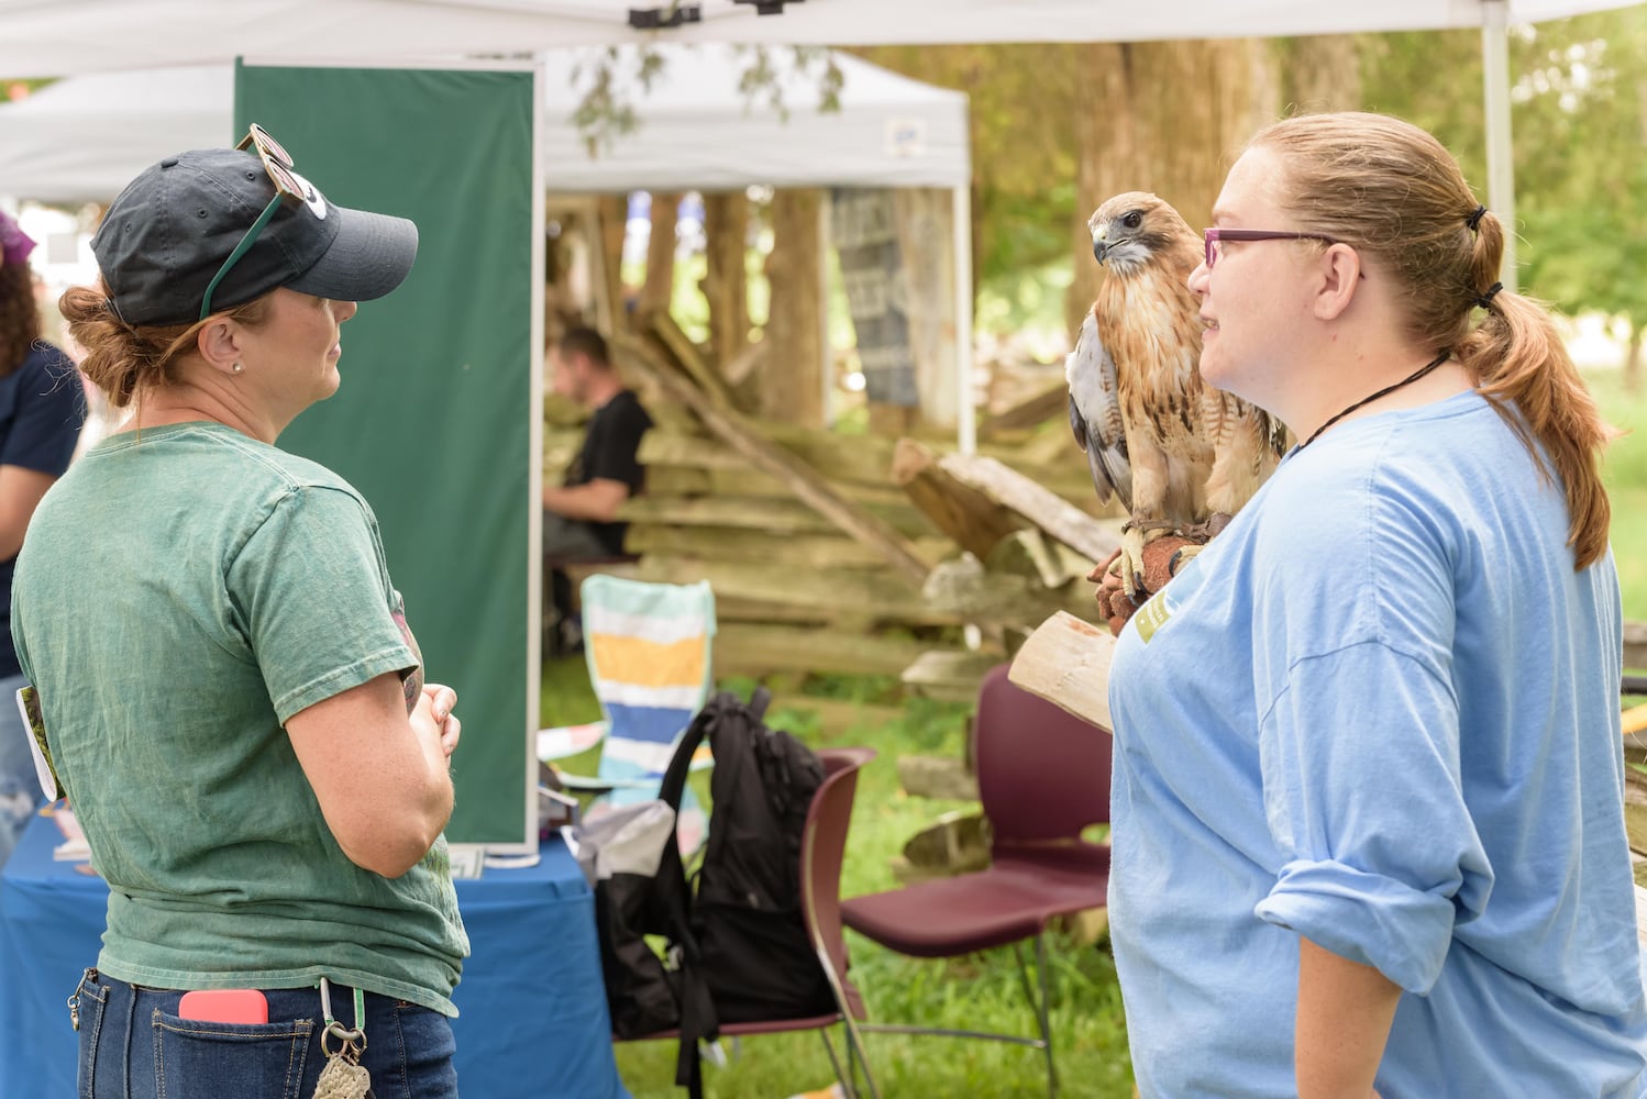
[[[692,755],[708,737],[710,839],[695,888],[670,834],[656,877],[618,875],[595,890],[613,1033],[637,1038],[679,1027],[675,1083],[693,1097],[702,1094],[698,1040],[713,1040],[721,1023],[837,1010],[800,911],[800,832],[824,765],[766,727],[769,701],[766,688],[749,703],[718,693],[664,773],[659,800],[679,811]],[[667,936],[672,967],[642,934]]]

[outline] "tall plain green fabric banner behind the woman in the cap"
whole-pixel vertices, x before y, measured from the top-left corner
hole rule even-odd
[[[280,446],[371,502],[428,678],[458,691],[448,839],[535,851],[534,76],[242,64],[234,118],[329,201],[417,222],[412,275],[343,326],[341,390]]]

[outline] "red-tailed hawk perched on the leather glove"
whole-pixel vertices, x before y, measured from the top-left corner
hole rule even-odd
[[[1087,227],[1108,275],[1064,364],[1069,423],[1099,500],[1113,494],[1131,512],[1113,566],[1131,596],[1145,543],[1217,533],[1275,469],[1283,433],[1201,380],[1201,303],[1187,280],[1202,243],[1178,211],[1128,191]]]

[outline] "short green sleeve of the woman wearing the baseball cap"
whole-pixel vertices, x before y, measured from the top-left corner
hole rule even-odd
[[[287,494],[231,564],[229,592],[282,724],[418,665],[395,620],[377,522],[341,489]]]

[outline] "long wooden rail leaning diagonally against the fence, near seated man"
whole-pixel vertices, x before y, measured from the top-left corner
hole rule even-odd
[[[891,564],[893,569],[907,582],[919,586],[926,579],[929,571],[926,561],[921,559],[914,545],[911,545],[901,531],[875,513],[842,497],[833,487],[830,487],[822,474],[784,447],[761,438],[758,429],[736,413],[716,408],[715,403],[705,398],[697,388],[669,372],[665,367],[659,367],[652,360],[651,354],[639,355],[637,359],[644,360],[642,369],[654,375],[656,382],[669,396],[690,406],[692,411],[703,420],[703,426],[720,436],[735,451],[748,457],[768,474],[787,484],[802,502],[840,526],[843,531],[863,545],[878,550],[886,558],[888,564]]]

